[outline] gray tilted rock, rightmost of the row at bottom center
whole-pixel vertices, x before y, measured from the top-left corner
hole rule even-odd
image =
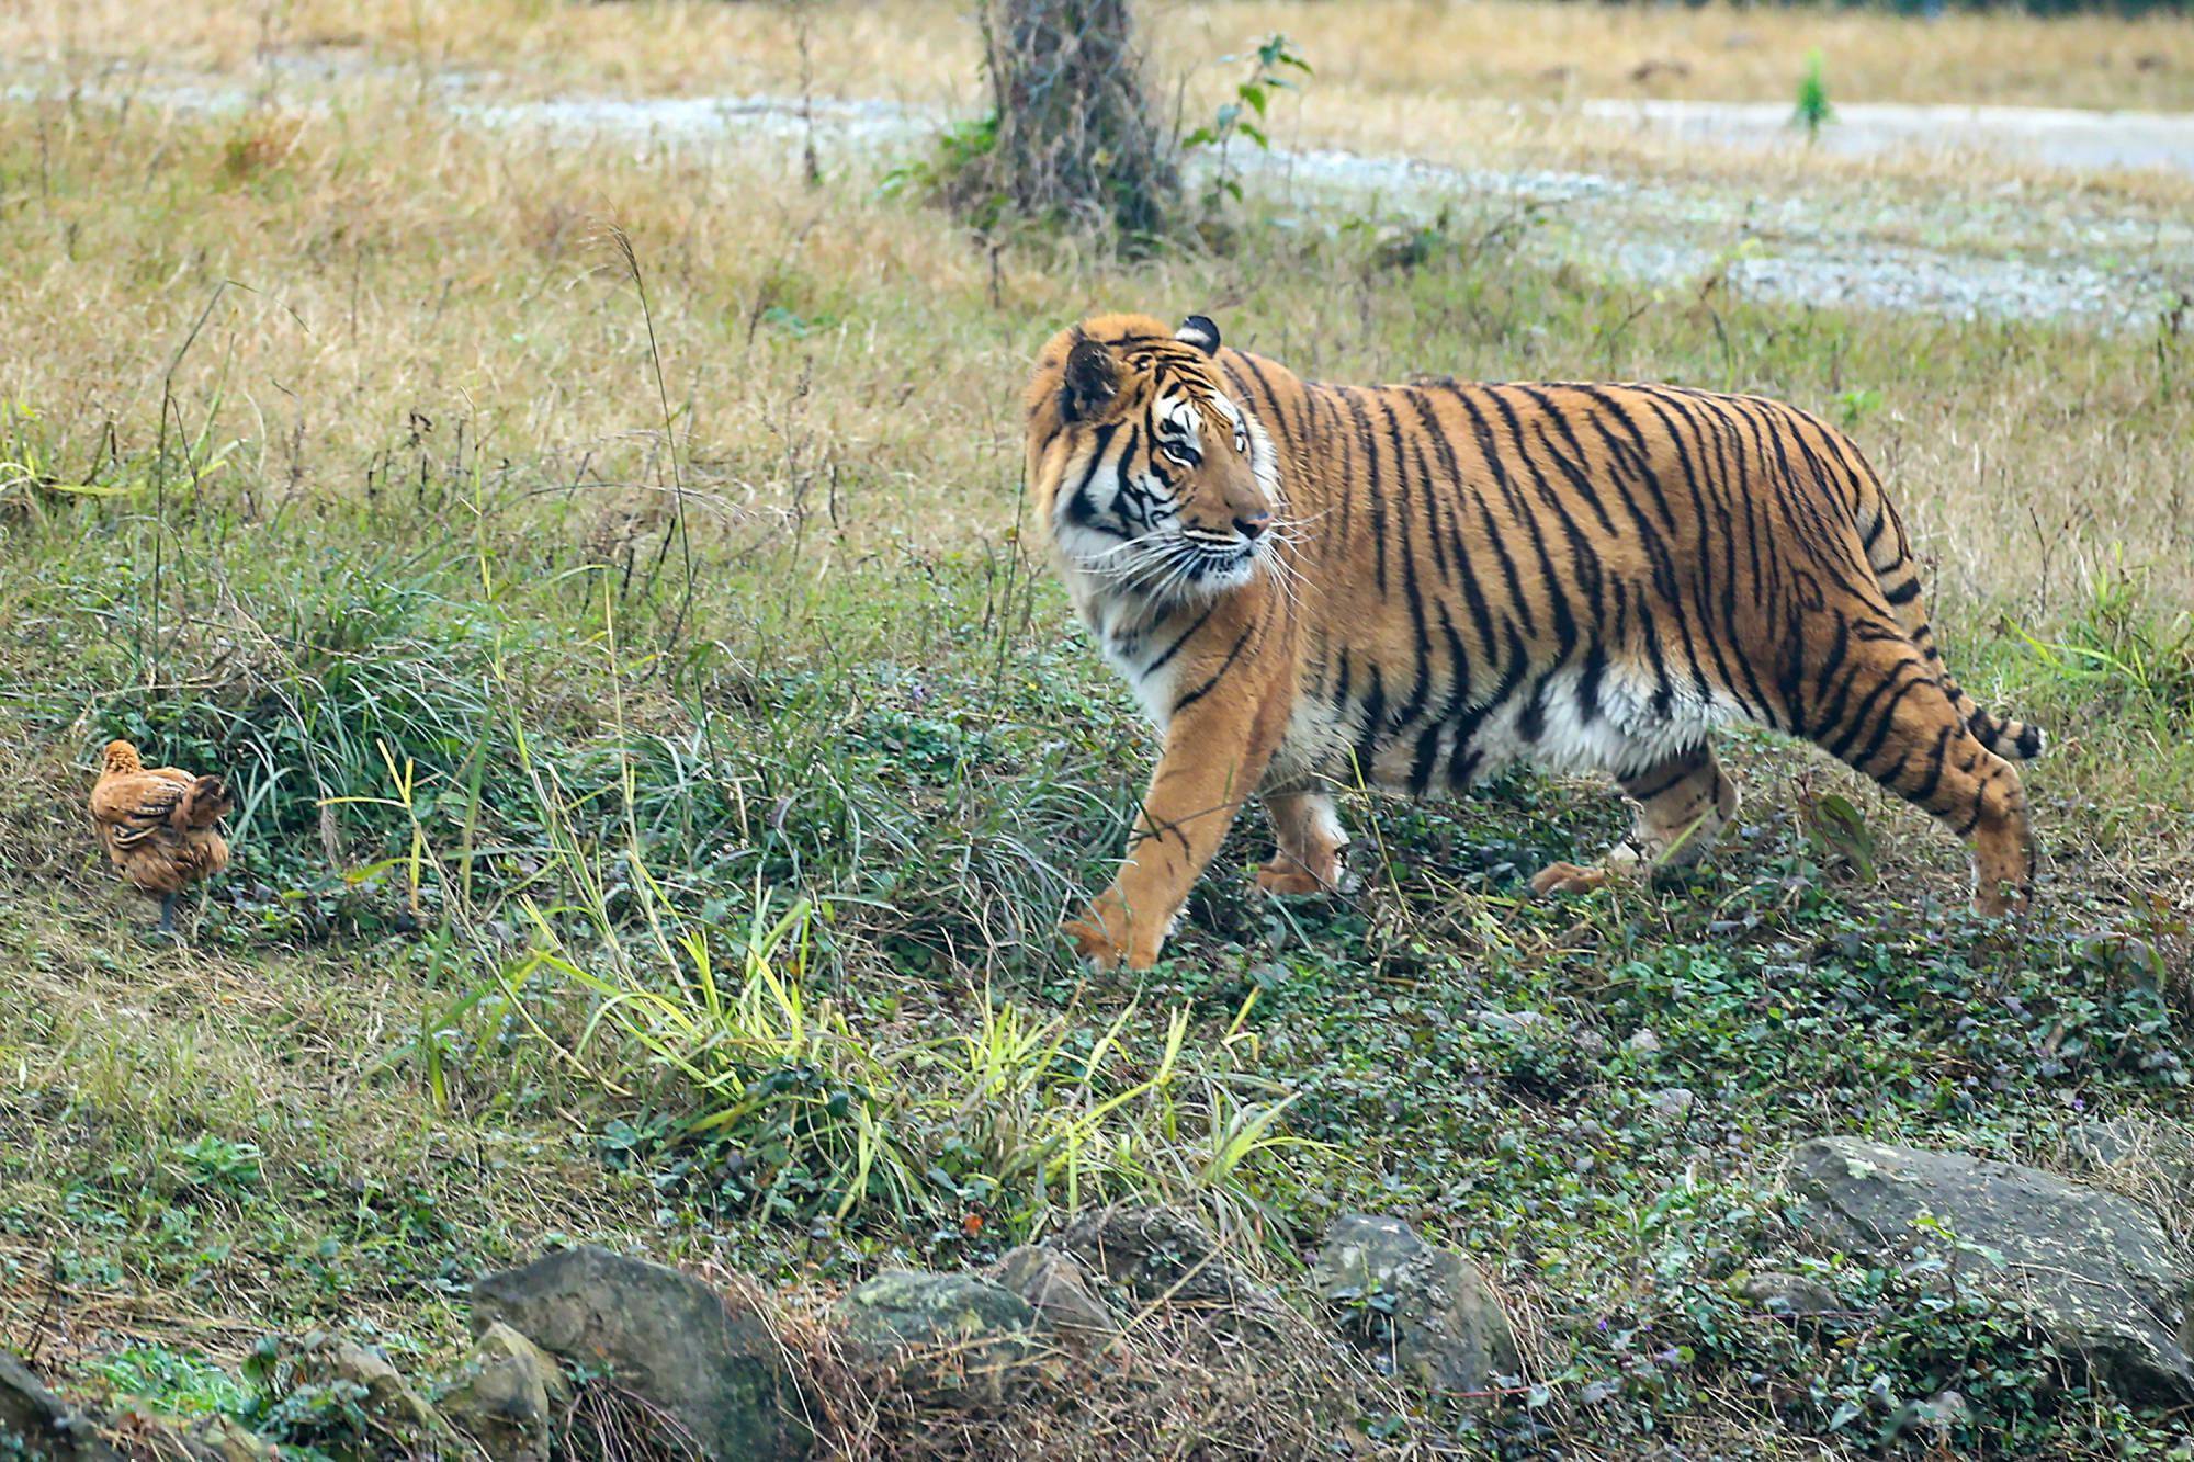
[[[1516,1335],[1468,1258],[1400,1218],[1343,1214],[1310,1271],[1352,1339],[1435,1392],[1481,1392],[1523,1370]]]

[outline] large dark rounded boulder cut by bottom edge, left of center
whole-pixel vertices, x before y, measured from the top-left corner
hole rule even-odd
[[[713,1458],[807,1458],[812,1414],[770,1326],[700,1280],[584,1245],[472,1284],[472,1326],[507,1324],[610,1372]]]

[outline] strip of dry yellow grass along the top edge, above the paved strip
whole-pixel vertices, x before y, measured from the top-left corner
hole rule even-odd
[[[965,101],[976,42],[963,0],[805,7],[818,90]],[[529,72],[595,90],[790,90],[799,4],[542,0],[33,0],[0,15],[11,55],[145,57],[237,68],[274,50]],[[1944,15],[1876,9],[1531,4],[1523,0],[1154,0],[1167,77],[1286,31],[1343,99],[1707,97],[1786,101],[1821,48],[1839,101],[2194,108],[2194,29],[2165,15]]]

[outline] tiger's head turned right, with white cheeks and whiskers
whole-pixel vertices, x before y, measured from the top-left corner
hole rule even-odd
[[[1277,553],[1279,454],[1226,393],[1220,329],[1104,314],[1062,329],[1029,386],[1027,483],[1068,566],[1178,601],[1248,584]]]

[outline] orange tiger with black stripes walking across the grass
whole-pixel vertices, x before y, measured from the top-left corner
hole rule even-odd
[[[1604,771],[1635,830],[1531,893],[1667,878],[1738,808],[1711,733],[1740,720],[1968,839],[1979,913],[2027,907],[2012,762],[2043,733],[1950,676],[1898,511],[1819,417],[1672,384],[1310,382],[1200,314],[1058,331],[1025,411],[1053,566],[1161,738],[1117,876],[1064,922],[1097,968],[1156,961],[1251,797],[1277,843],[1257,885],[1319,893],[1336,790]]]

